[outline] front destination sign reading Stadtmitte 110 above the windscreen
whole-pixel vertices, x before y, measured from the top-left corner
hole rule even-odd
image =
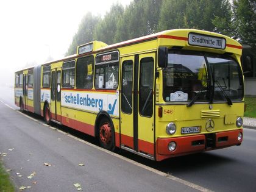
[[[225,49],[226,39],[221,37],[213,37],[202,34],[190,33],[188,35],[188,43],[191,45],[202,46],[207,48]]]

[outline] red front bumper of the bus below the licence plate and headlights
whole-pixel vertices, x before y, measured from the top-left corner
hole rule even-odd
[[[238,133],[240,132],[243,134],[243,129],[218,133],[207,133],[205,135],[157,138],[156,160],[161,161],[165,158],[240,145],[243,141],[243,138],[241,141],[238,141],[237,137]],[[176,143],[176,149],[174,151],[169,151],[168,149],[168,144],[171,141]]]

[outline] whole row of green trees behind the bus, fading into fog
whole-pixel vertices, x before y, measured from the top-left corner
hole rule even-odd
[[[113,4],[103,19],[84,16],[66,55],[93,40],[113,44],[180,28],[218,32],[255,48],[255,12],[255,0],[133,0],[125,9]]]

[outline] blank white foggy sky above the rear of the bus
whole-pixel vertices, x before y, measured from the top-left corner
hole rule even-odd
[[[64,57],[82,17],[132,0],[9,0],[0,2],[0,85],[13,85],[26,65]]]

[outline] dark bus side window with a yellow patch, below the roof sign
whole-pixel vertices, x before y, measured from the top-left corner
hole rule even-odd
[[[76,62],[76,88],[93,87],[93,55],[77,59]]]

